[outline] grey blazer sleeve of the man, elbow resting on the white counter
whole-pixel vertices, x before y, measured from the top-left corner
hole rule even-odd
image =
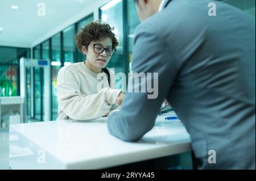
[[[160,32],[158,27],[148,23],[141,23],[137,28],[134,40],[133,72],[151,73],[151,76],[147,76],[147,81],[154,82],[155,95],[147,89],[146,92],[131,92],[135,87],[141,90],[146,82],[128,85],[128,92],[121,110],[111,113],[108,117],[110,134],[121,140],[137,141],[154,127],[160,106],[174,81],[176,75],[174,58],[172,58],[172,52],[165,51],[168,44]],[[167,61],[173,61],[173,63],[167,64]],[[157,73],[158,78],[154,78],[153,73]],[[149,98],[150,94],[151,98]]]

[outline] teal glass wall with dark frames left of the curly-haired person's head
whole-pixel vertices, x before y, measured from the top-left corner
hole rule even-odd
[[[58,116],[57,74],[61,67],[85,60],[85,57],[76,49],[75,34],[78,28],[92,21],[93,14],[90,14],[33,48],[34,58],[51,60],[51,120],[56,120]],[[46,106],[44,105],[42,69],[34,69],[34,82],[34,116],[32,118],[35,121],[42,121],[44,120],[44,106]]]

